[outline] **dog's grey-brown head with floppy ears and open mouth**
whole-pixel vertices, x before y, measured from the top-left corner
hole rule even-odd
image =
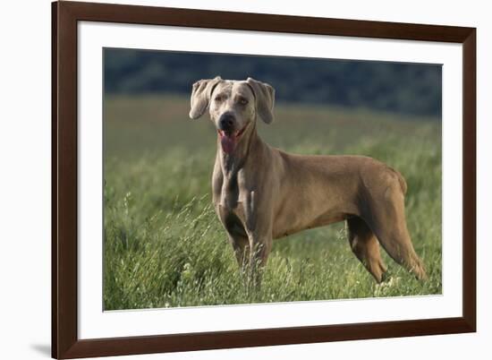
[[[200,80],[191,91],[191,119],[198,119],[208,109],[216,125],[222,149],[231,153],[250,136],[259,116],[270,124],[274,119],[275,90],[265,82],[215,79]]]

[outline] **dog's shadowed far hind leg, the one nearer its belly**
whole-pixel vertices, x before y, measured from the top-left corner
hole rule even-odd
[[[386,266],[379,253],[379,244],[376,236],[368,225],[358,217],[347,219],[349,230],[349,243],[352,252],[362,262],[366,269],[372,274],[379,283],[383,280]]]

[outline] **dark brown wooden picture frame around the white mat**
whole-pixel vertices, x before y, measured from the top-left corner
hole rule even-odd
[[[462,44],[462,317],[113,339],[77,336],[77,21]],[[476,331],[476,29],[150,6],[52,4],[52,356],[117,356]]]

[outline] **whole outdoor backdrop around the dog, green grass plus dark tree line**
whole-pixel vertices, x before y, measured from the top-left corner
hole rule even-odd
[[[276,119],[258,126],[268,144],[400,171],[428,281],[385,253],[389,280],[377,287],[339,223],[277,241],[264,286],[242,287],[211,207],[216,130],[208,115],[188,117],[192,83],[216,75],[276,89]],[[106,48],[105,309],[440,294],[441,81],[439,64]]]

